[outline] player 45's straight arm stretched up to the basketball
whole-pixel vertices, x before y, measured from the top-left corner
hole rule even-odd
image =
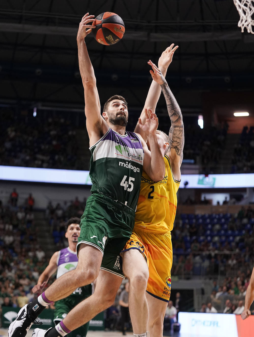
[[[91,23],[95,20],[93,19],[94,15],[88,14],[89,13],[86,13],[83,16],[79,24],[77,44],[79,70],[84,87],[86,128],[90,139],[90,146],[92,146],[106,133],[108,126],[101,116],[100,99],[96,87],[94,68],[84,40],[86,35],[91,33],[92,29],[95,28],[95,26],[89,24],[89,22]]]

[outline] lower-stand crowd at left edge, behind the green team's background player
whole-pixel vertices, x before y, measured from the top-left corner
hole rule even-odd
[[[33,299],[32,287],[47,266],[37,241],[38,229],[29,205],[17,206],[18,193],[7,206],[0,202],[0,305],[22,307]]]

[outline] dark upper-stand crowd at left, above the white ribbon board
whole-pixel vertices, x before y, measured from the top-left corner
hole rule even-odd
[[[0,164],[82,170],[76,131],[60,113],[37,117],[1,109]]]

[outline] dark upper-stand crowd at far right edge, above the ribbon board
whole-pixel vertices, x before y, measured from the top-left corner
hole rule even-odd
[[[231,173],[254,172],[254,126],[245,126],[235,145]]]

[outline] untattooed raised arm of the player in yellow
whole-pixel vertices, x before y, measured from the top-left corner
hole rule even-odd
[[[159,61],[158,61],[158,68],[161,70],[161,73],[163,76],[166,76],[167,69],[172,62],[172,58],[174,55],[174,52],[177,50],[178,45],[174,47],[174,43],[172,43],[164,52],[161,54]],[[172,49],[173,48],[173,49]],[[150,64],[151,61],[148,62]],[[157,105],[157,102],[159,100],[161,93],[161,87],[156,81],[152,81],[151,86],[149,88],[147,98],[145,101],[144,108],[142,110],[142,113],[140,115],[140,118],[142,120],[142,123],[145,123],[146,117],[145,117],[145,110],[151,109],[153,112],[155,112],[155,108]],[[146,134],[140,129],[139,123],[137,123],[135,132],[140,133],[145,141],[147,141]]]

